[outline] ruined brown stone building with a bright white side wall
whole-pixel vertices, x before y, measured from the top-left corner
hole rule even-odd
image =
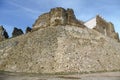
[[[111,22],[107,22],[99,15],[85,22],[84,25],[119,41],[119,35],[115,32],[114,25]]]

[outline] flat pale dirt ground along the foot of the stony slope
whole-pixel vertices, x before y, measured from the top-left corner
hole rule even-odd
[[[120,80],[120,72],[71,75],[40,75],[0,72],[0,80]]]

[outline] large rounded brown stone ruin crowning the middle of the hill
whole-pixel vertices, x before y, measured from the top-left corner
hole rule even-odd
[[[39,16],[33,25],[33,29],[57,25],[74,25],[82,28],[85,27],[82,22],[76,19],[72,9],[65,10],[64,8],[57,7],[51,9],[50,12]]]

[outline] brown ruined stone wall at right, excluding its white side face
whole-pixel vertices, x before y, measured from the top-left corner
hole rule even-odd
[[[119,35],[115,32],[114,25],[111,22],[105,21],[100,16],[96,16],[96,27],[94,29],[119,41]]]

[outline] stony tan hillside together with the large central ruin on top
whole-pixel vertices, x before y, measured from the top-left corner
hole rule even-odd
[[[72,9],[53,8],[39,16],[33,28],[26,31],[0,42],[0,70],[28,73],[120,70],[118,39],[85,26],[75,18]]]

